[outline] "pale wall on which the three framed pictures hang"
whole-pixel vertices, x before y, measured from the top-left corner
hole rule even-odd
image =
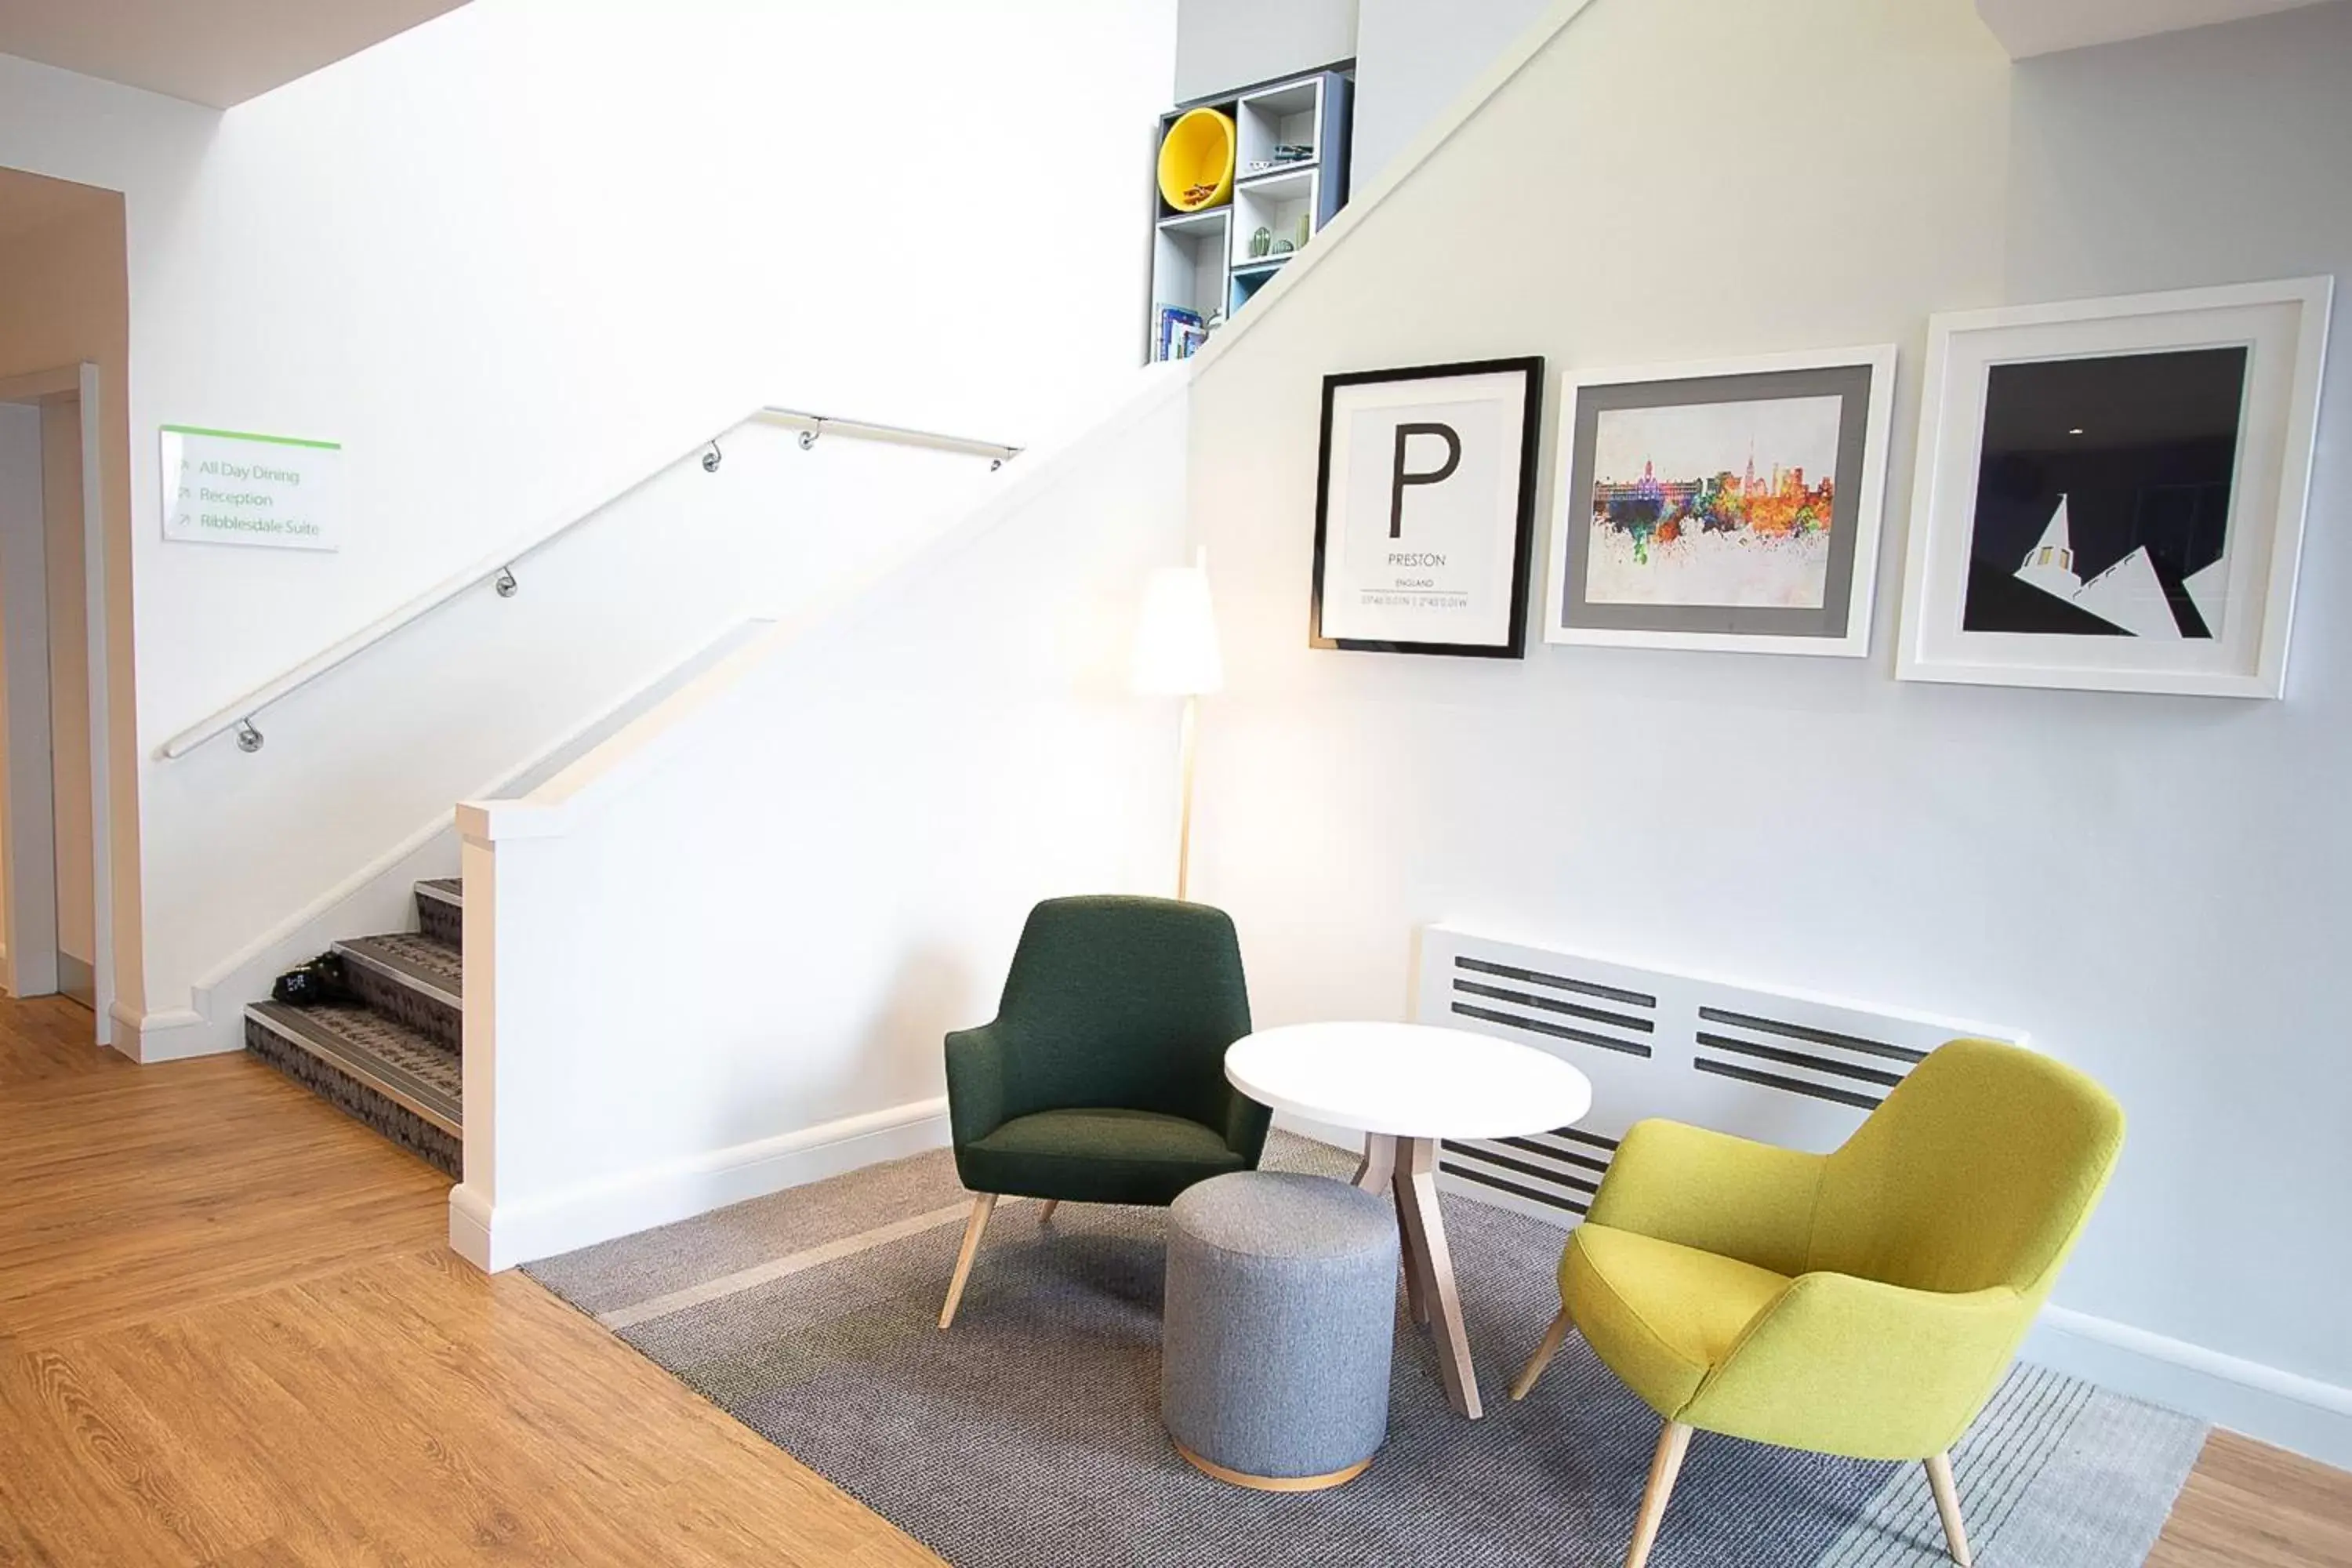
[[[1625,73],[1665,59],[1804,89],[1623,113]],[[2343,348],[2284,703],[1896,684],[1891,590],[1867,661],[1305,646],[1327,371],[1896,341],[1893,585],[1931,310],[2345,273],[2347,148],[2345,5],[2013,73],[1969,0],[1595,0],[1197,369],[1230,672],[1197,886],[1240,922],[1258,1016],[1402,1016],[1414,931],[1449,919],[2025,1027],[2133,1128],[2058,1288],[2072,1349],[2046,1354],[2129,1342],[2112,1380],[2352,1460]],[[1762,237],[1628,237],[1679,200]],[[1545,458],[1548,494],[1550,430]],[[1649,809],[1691,778],[1712,811]]]

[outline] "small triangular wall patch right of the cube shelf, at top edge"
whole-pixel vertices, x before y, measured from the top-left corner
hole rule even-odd
[[[1371,190],[1548,9],[1550,0],[1362,0],[1348,183]]]

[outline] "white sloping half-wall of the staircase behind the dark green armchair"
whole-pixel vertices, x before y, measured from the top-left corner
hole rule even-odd
[[[459,1251],[508,1267],[943,1143],[941,1037],[990,1018],[1028,907],[1167,891],[1176,705],[1129,696],[1127,654],[1181,559],[1178,374],[461,813]]]

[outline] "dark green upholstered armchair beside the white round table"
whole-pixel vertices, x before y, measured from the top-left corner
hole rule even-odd
[[[938,1326],[955,1321],[997,1197],[1167,1206],[1251,1171],[1272,1112],[1225,1081],[1249,1034],[1223,910],[1049,898],[1030,910],[993,1023],[948,1037],[955,1173],[974,1192]]]

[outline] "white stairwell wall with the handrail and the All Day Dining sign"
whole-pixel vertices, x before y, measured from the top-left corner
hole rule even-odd
[[[0,165],[127,193],[151,1027],[489,783],[485,726],[527,757],[579,696],[532,658],[675,623],[708,567],[647,552],[623,607],[503,621],[527,646],[416,632],[261,757],[169,733],[753,404],[1014,442],[1091,407],[1143,294],[1117,127],[1171,52],[1171,0],[475,0],[226,115],[0,56]],[[343,552],[165,543],[160,423],[343,442]]]

